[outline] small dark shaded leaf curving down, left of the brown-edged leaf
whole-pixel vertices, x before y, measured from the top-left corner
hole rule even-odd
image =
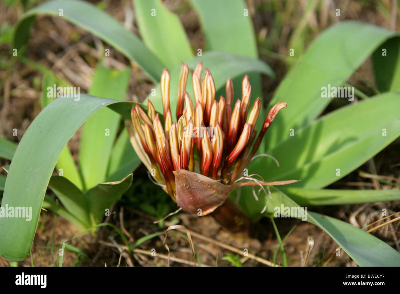
[[[89,207],[85,195],[64,176],[52,176],[49,188],[60,199],[64,208],[85,228],[90,228]]]

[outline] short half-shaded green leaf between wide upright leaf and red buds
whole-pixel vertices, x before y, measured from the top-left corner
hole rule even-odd
[[[141,161],[130,143],[128,132],[124,128],[112,147],[106,181],[118,181],[126,177],[140,163]]]

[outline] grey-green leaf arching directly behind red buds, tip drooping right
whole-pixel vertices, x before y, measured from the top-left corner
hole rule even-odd
[[[274,76],[274,72],[265,62],[238,54],[209,51],[204,53],[202,56],[197,56],[189,61],[186,61],[186,64],[188,65],[189,69],[194,70],[194,68],[196,68],[196,65],[200,61],[203,61],[203,67],[208,68],[212,73],[212,77],[214,78],[215,87],[217,90],[225,86],[226,80],[228,80],[230,76],[234,78],[236,76],[241,76],[245,72],[261,72],[269,76]],[[178,96],[180,68],[176,68],[175,70],[170,72],[170,74],[170,107],[172,118],[175,118],[176,97]],[[240,82],[240,85],[241,84],[242,83]],[[150,99],[150,101],[154,105],[154,108],[162,113],[160,83],[157,84],[155,89],[155,96],[152,96],[152,94],[150,94],[149,96],[147,96],[147,99]],[[188,78],[186,91],[188,91],[188,94],[194,100],[192,78]]]

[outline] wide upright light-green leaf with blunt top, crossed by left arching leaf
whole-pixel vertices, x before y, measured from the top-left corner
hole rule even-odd
[[[98,64],[88,94],[124,100],[130,68],[114,70]],[[117,136],[121,116],[109,108],[93,114],[84,124],[80,137],[79,166],[85,190],[106,180],[111,148]],[[130,172],[128,172],[130,174]],[[125,174],[122,178],[126,177]],[[119,178],[120,180],[121,178]]]

